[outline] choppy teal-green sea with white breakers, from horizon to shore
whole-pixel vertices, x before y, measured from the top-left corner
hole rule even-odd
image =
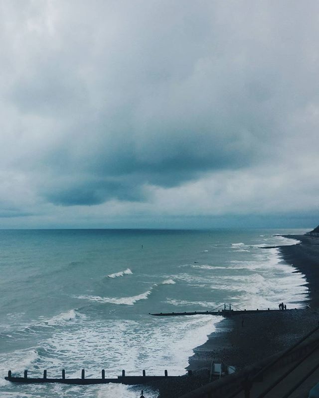
[[[146,398],[121,384],[24,385],[14,376],[183,375],[219,316],[154,312],[306,305],[305,276],[272,246],[301,229],[0,230],[0,397]],[[235,307],[233,307],[235,308]]]

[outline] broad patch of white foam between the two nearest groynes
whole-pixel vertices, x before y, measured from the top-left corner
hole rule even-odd
[[[117,377],[125,369],[127,375],[138,375],[147,369],[149,375],[185,373],[187,359],[195,346],[206,341],[213,332],[218,316],[195,315],[157,319],[147,315],[137,320],[96,319],[74,330],[65,328],[46,340],[52,352],[58,352],[68,377],[79,377],[83,364],[90,364],[87,377],[99,377],[101,364],[109,369],[107,377]],[[128,349],[130,347],[130,349]],[[54,375],[53,367],[41,367]],[[55,371],[56,372],[56,371]],[[60,373],[60,372],[59,372]],[[91,396],[90,396],[91,397]]]

